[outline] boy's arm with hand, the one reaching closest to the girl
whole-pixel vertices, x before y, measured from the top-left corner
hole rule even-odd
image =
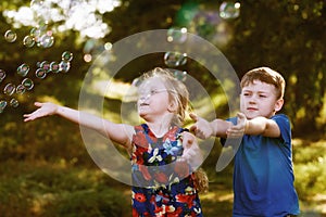
[[[196,123],[190,127],[190,131],[201,139],[208,139],[209,137],[221,137],[226,138],[226,131],[233,126],[230,122],[224,119],[214,119],[208,122],[206,119],[197,116],[196,114],[190,114],[190,117]]]

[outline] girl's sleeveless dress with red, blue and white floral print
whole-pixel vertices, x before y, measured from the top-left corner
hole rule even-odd
[[[190,166],[183,154],[183,128],[156,138],[143,124],[133,137],[133,216],[202,216]]]

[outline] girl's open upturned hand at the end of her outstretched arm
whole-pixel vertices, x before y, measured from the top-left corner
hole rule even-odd
[[[35,102],[35,106],[38,108],[30,114],[24,114],[24,122],[34,120],[40,117],[49,116],[55,114],[59,105],[51,102],[40,103]]]

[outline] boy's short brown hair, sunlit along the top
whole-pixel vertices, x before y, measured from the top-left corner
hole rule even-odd
[[[286,81],[284,77],[269,67],[258,67],[249,71],[241,79],[241,88],[252,84],[254,80],[260,80],[268,85],[273,85],[276,89],[276,99],[283,99]]]

